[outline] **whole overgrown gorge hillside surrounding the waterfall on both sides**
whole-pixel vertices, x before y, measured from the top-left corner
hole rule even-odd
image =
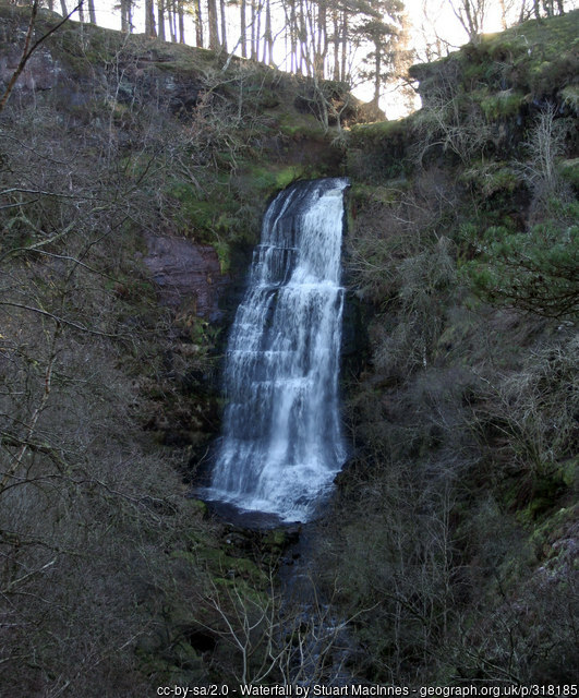
[[[304,651],[331,679],[277,581],[297,531],[191,483],[266,203],[338,174],[352,455],[302,533],[317,613],[350,619],[357,683],[572,683],[577,17],[415,67],[423,109],[358,125],[337,83],[93,26],[41,45],[0,115],[7,691],[280,684]],[[25,22],[0,8],[4,84]]]

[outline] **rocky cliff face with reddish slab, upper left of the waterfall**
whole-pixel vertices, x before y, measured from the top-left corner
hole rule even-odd
[[[41,11],[35,38],[59,21]],[[26,27],[25,10],[0,8],[4,84]],[[197,327],[185,337],[194,346],[207,340],[200,329],[206,323],[224,340],[267,200],[295,178],[341,170],[341,152],[307,106],[310,85],[239,60],[224,74],[224,60],[69,22],[34,52],[11,97],[14,107],[52,115],[80,140],[87,166],[114,158],[136,206],[128,220],[142,240],[137,258],[171,313],[173,334]],[[128,288],[118,285],[121,297]],[[202,363],[210,374],[210,362]]]

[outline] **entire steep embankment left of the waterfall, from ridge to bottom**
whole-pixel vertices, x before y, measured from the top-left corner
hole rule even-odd
[[[25,9],[0,9],[4,84],[25,31]],[[14,696],[143,696],[269,667],[284,535],[209,521],[182,476],[219,430],[219,348],[265,204],[337,173],[342,153],[311,85],[225,58],[68,24],[1,115],[0,684]]]

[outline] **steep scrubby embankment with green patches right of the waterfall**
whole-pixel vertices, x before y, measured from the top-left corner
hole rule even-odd
[[[417,67],[421,111],[352,129],[369,348],[315,545],[371,681],[576,678],[577,21]]]

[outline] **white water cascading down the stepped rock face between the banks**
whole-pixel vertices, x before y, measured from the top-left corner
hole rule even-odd
[[[306,520],[346,458],[338,370],[347,179],[298,182],[263,222],[226,360],[207,498]]]

